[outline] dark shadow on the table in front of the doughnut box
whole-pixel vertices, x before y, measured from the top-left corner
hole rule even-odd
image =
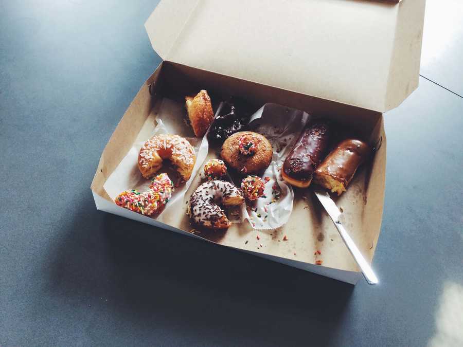
[[[82,208],[46,269],[53,295],[205,344],[326,345],[343,323],[352,285]]]

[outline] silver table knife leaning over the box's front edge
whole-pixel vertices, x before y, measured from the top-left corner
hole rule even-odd
[[[319,202],[325,208],[326,212],[333,221],[334,226],[341,235],[341,238],[343,239],[344,243],[346,244],[347,248],[352,254],[352,257],[354,258],[355,262],[357,262],[357,264],[359,265],[365,280],[368,282],[368,284],[377,284],[379,281],[375,275],[375,272],[373,272],[370,264],[368,264],[368,262],[365,260],[365,258],[362,255],[362,252],[360,252],[359,248],[357,247],[357,245],[355,245],[349,233],[342,225],[340,221],[341,211],[339,210],[339,208],[337,208],[331,196],[328,194],[328,192],[318,187],[314,188],[313,191],[315,193],[315,196],[318,198]]]

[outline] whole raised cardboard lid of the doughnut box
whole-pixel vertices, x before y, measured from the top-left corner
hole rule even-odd
[[[163,0],[164,60],[385,112],[418,86],[425,0]]]

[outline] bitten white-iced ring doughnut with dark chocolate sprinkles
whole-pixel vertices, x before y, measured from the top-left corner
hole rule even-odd
[[[242,191],[230,182],[207,181],[191,194],[188,214],[197,225],[210,229],[225,229],[230,226],[230,222],[219,205],[238,206],[242,203]]]

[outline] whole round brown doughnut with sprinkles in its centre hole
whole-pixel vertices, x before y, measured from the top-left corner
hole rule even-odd
[[[264,136],[250,131],[231,135],[222,145],[227,165],[242,174],[258,174],[272,161],[272,145]]]

